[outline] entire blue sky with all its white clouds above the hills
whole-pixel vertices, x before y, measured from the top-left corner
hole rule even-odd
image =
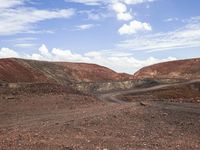
[[[133,73],[200,57],[198,0],[0,0],[0,58],[88,62]]]

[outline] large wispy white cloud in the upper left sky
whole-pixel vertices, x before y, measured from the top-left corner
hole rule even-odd
[[[39,32],[34,30],[36,23],[48,19],[69,18],[74,13],[73,9],[39,10],[28,7],[0,8],[0,35]]]

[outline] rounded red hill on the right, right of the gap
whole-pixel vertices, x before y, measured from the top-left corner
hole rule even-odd
[[[144,67],[134,74],[135,79],[198,79],[200,58],[170,61]]]

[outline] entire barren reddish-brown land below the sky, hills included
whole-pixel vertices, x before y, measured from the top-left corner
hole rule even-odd
[[[135,74],[0,59],[0,149],[200,149],[200,59]]]

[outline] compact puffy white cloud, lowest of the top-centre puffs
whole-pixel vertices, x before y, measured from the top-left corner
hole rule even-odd
[[[119,34],[135,34],[138,31],[151,31],[151,25],[148,23],[142,23],[139,21],[131,21],[129,24],[124,24],[118,31]]]

